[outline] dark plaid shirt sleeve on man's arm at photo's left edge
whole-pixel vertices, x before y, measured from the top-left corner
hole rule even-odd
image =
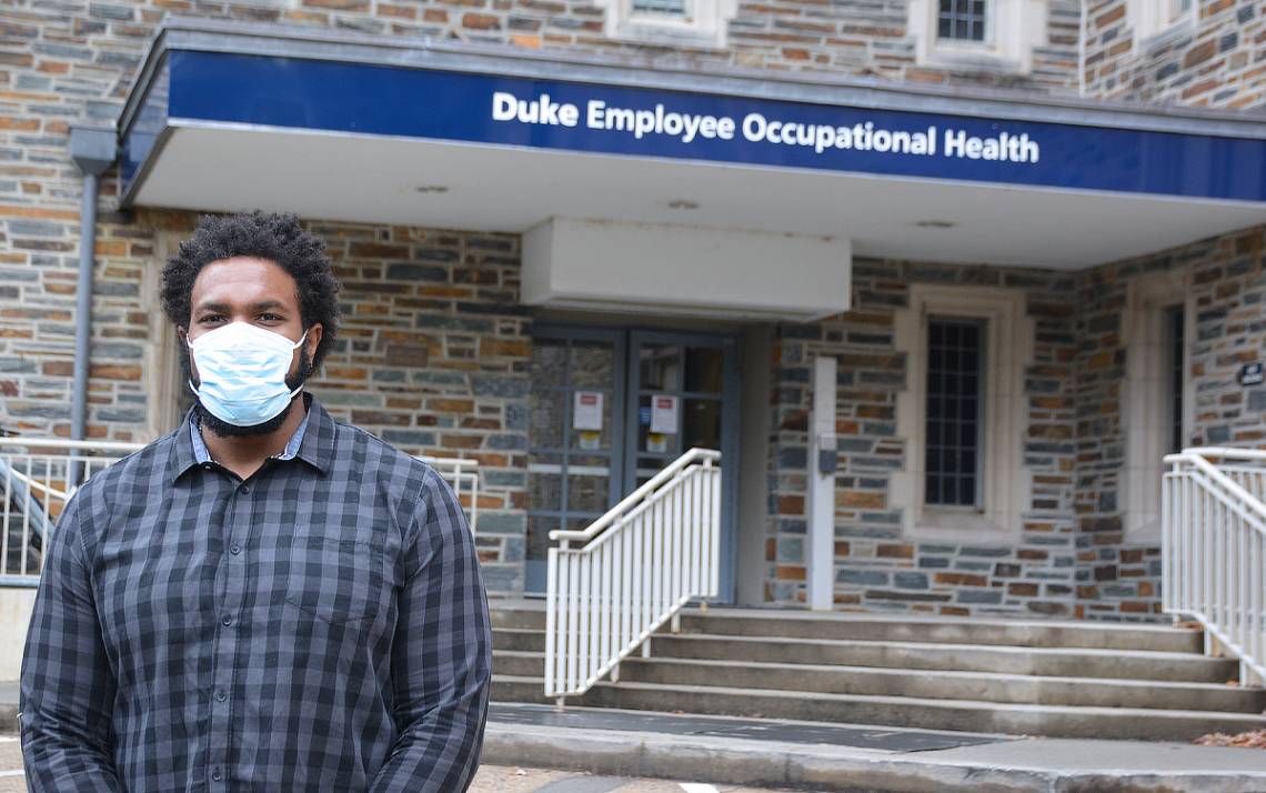
[[[46,538],[22,660],[19,725],[33,793],[123,790],[113,759],[114,670],[85,561],[82,500],[71,499]]]

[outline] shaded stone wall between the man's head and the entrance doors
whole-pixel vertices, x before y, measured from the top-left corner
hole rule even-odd
[[[343,284],[342,338],[313,391],[398,448],[477,460],[485,580],[523,589],[530,347],[518,236],[310,227]]]

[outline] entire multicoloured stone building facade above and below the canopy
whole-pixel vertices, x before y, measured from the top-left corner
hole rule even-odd
[[[925,57],[912,22],[925,0],[741,0],[710,41],[613,24],[592,0],[19,0],[0,9],[0,432],[66,436],[75,333],[80,176],[72,123],[120,113],[167,14],[427,38],[560,57],[819,75],[875,86],[1009,90],[1260,114],[1266,1],[1198,0],[1190,18],[1141,32],[1133,0],[1015,0],[1039,15],[1025,66]],[[1032,10],[1038,9],[1038,10]],[[1155,22],[1155,20],[1153,20]],[[1155,25],[1153,25],[1155,27]],[[1019,96],[1020,94],[1017,94]],[[103,180],[92,301],[89,436],[151,440],[179,405],[179,371],[156,303],[157,269],[194,210],[119,206]],[[522,236],[305,219],[343,282],[343,328],[314,390],[341,418],[417,454],[481,465],[480,547],[490,587],[524,587],[533,324],[520,301]],[[768,323],[767,519],[760,600],[805,599],[809,365],[839,362],[836,603],[839,608],[1146,619],[1160,617],[1160,551],[1133,533],[1129,305],[1137,284],[1179,279],[1193,307],[1191,443],[1256,445],[1266,390],[1236,372],[1266,343],[1266,227],[1110,263],[1050,270],[857,257],[852,310]],[[923,286],[987,288],[1023,307],[1023,469],[1004,537],[910,536],[899,471],[910,351],[899,314]],[[168,341],[163,341],[167,338]]]

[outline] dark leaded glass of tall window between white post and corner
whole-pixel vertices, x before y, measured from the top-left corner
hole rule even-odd
[[[924,498],[929,504],[977,503],[982,327],[971,319],[928,323]]]

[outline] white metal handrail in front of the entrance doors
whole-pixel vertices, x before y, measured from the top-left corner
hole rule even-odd
[[[715,598],[720,452],[691,448],[584,531],[549,532],[547,697],[558,707],[642,649],[693,599]],[[582,542],[572,547],[572,542]]]

